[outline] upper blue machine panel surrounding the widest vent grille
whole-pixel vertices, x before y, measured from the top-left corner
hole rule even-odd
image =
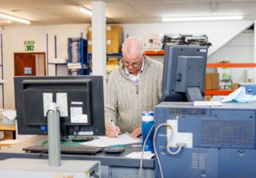
[[[193,147],[255,148],[255,111],[212,110],[211,114],[178,119],[178,132],[192,132]]]

